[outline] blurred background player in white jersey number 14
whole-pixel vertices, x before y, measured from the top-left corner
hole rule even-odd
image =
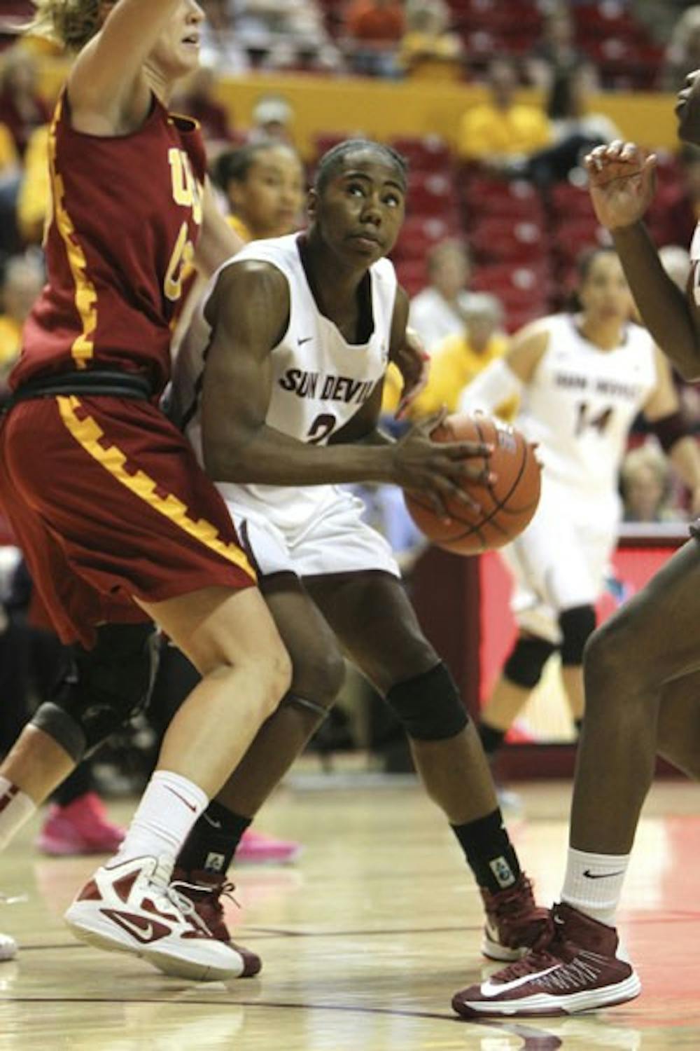
[[[537,512],[503,550],[512,573],[517,640],[482,713],[480,734],[495,753],[558,650],[572,717],[584,716],[584,646],[617,540],[619,468],[643,411],[700,511],[700,455],[685,434],[669,365],[645,329],[629,321],[632,296],[613,248],[579,261],[575,313],[526,326],[509,353],[464,391],[460,408],[494,411],[504,391],[519,397],[516,426],[544,470]]]

